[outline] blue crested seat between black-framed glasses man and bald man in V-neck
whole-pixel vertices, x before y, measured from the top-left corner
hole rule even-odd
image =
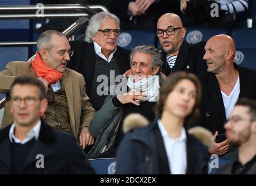
[[[207,41],[218,34],[227,34],[227,30],[221,28],[186,28],[185,41],[195,44],[200,41]]]

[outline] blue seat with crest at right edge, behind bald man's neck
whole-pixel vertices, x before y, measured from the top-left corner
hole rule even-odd
[[[256,48],[255,49],[237,49],[234,62],[237,65],[256,70]]]

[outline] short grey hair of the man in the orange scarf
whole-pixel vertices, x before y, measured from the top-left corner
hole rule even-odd
[[[58,35],[59,37],[65,36],[63,33],[56,30],[44,31],[37,40],[37,50],[40,51],[42,48],[51,49],[52,47],[52,35]],[[66,36],[65,36],[66,37]]]

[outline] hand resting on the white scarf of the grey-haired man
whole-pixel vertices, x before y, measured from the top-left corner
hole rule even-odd
[[[140,105],[140,103],[137,103],[134,100],[137,99],[137,100],[145,101],[144,97],[147,97],[147,95],[143,94],[140,91],[130,91],[125,94],[119,95],[118,99],[122,104],[133,103],[134,105],[138,106]]]

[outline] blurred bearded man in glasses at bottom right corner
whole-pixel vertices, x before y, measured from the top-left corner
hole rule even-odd
[[[256,174],[256,102],[241,98],[225,124],[226,137],[234,151],[234,160],[219,167],[218,174]]]

